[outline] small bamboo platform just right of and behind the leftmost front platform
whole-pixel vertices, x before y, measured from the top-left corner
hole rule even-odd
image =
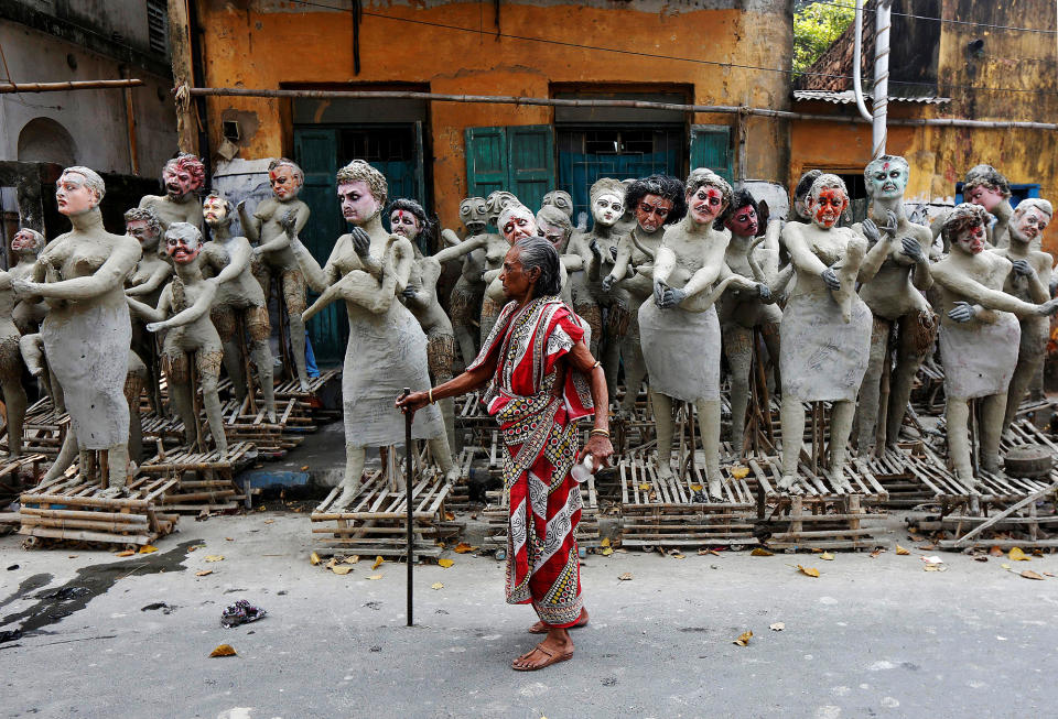
[[[159,449],[159,454],[140,466],[140,472],[175,481],[161,500],[166,510],[199,514],[236,510],[240,503],[250,506],[252,491],[236,484],[235,473],[256,458],[252,443],[229,445],[224,456],[217,450],[199,453],[187,447],[168,453]]]

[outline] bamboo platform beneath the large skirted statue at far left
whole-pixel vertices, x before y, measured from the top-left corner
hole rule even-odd
[[[179,515],[163,512],[164,499],[175,486],[171,477],[141,476],[128,484],[129,497],[101,497],[95,482],[68,486],[76,469],[21,497],[19,534],[23,546],[48,542],[99,542],[136,548],[171,533]]]

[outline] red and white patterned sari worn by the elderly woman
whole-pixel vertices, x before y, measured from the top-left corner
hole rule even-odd
[[[571,627],[583,606],[574,536],[581,490],[570,469],[576,420],[593,414],[593,405],[582,372],[566,368],[563,385],[555,388],[555,370],[584,333],[583,320],[559,297],[539,297],[520,309],[511,302],[467,367],[497,360],[482,401],[507,446],[507,602],[531,603],[551,627]]]

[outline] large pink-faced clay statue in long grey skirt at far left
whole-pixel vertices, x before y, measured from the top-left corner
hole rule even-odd
[[[12,284],[20,295],[41,296],[48,304],[41,338],[48,367],[63,386],[80,471],[89,467],[90,450],[107,450],[107,491],[122,493],[129,471],[125,380],[132,339],[125,279],[141,251],[133,238],[104,229],[99,201],[105,192],[95,171],[64,170],[55,199],[73,230],[41,252],[32,281]]]

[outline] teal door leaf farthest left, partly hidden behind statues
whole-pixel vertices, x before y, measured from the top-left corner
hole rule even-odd
[[[323,266],[334,243],[346,231],[334,181],[339,164],[337,130],[295,128],[294,157],[305,173],[300,197],[312,210],[309,224],[301,231],[301,240]],[[315,296],[310,293],[310,304]],[[307,329],[317,362],[342,361],[349,334],[343,303],[331,304],[309,322]]]

